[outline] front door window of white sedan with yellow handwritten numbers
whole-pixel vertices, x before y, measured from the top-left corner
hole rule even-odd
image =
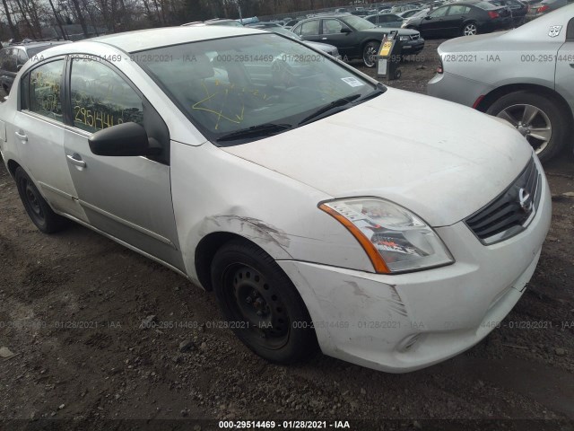
[[[100,61],[74,58],[70,99],[75,128],[96,132],[130,121],[143,123],[140,97],[121,76]]]

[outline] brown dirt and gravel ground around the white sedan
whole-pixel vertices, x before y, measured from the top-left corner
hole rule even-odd
[[[388,84],[424,92],[438,45]],[[0,347],[15,354],[0,358],[0,430],[574,429],[574,156],[546,169],[552,228],[516,308],[464,354],[385,374],[322,355],[267,364],[209,324],[214,296],[183,277],[79,225],[39,233],[0,164]]]

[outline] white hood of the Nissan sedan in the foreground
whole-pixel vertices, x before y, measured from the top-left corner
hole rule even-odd
[[[334,198],[387,198],[435,227],[496,198],[532,157],[502,120],[390,88],[326,119],[222,150]]]

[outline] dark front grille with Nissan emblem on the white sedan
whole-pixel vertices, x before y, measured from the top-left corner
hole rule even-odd
[[[508,189],[486,207],[465,220],[483,244],[511,238],[526,229],[540,203],[541,174],[531,159]]]

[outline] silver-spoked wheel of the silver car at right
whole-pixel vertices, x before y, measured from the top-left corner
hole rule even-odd
[[[552,159],[566,145],[569,120],[552,98],[535,92],[511,92],[492,103],[486,113],[506,119],[526,136],[541,162]]]

